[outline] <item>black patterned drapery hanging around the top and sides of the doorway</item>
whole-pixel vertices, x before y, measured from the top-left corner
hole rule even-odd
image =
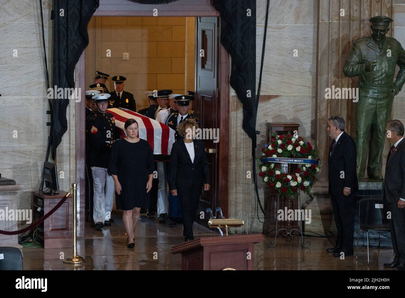
[[[128,1],[167,4],[177,0]],[[256,0],[212,0],[212,5],[221,14],[221,43],[231,56],[230,86],[243,105],[242,127],[256,147]],[[53,85],[58,88],[75,87],[75,65],[89,43],[87,24],[98,6],[98,0],[54,0]],[[67,106],[68,99],[53,100],[53,159],[67,130]]]

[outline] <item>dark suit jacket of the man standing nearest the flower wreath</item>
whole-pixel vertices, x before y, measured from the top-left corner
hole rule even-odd
[[[330,155],[332,144],[328,153],[329,193],[334,196],[343,196],[343,188],[350,187],[350,193],[354,194],[358,191],[356,143],[350,135],[343,132]],[[342,171],[344,178],[341,178]]]

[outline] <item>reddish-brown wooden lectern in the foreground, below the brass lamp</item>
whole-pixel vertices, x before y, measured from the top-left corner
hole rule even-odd
[[[208,236],[172,247],[181,253],[182,270],[253,270],[253,245],[262,234]]]

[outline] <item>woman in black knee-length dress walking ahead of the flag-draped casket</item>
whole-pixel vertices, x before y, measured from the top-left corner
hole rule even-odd
[[[151,146],[139,138],[138,122],[128,119],[124,128],[127,136],[115,141],[109,171],[115,184],[115,205],[124,210],[122,221],[128,235],[128,247],[134,248],[134,228],[141,208],[149,207],[155,163]]]

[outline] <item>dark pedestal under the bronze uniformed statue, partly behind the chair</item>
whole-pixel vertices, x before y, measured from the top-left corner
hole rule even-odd
[[[358,228],[358,200],[366,197],[382,197],[383,195],[383,180],[373,180],[369,178],[361,178],[358,182],[358,194],[355,196],[356,205],[354,208],[354,242],[357,242]],[[359,246],[367,247],[367,233],[359,231]],[[392,248],[391,235],[386,232],[371,232],[369,233],[369,247],[384,247]]]

